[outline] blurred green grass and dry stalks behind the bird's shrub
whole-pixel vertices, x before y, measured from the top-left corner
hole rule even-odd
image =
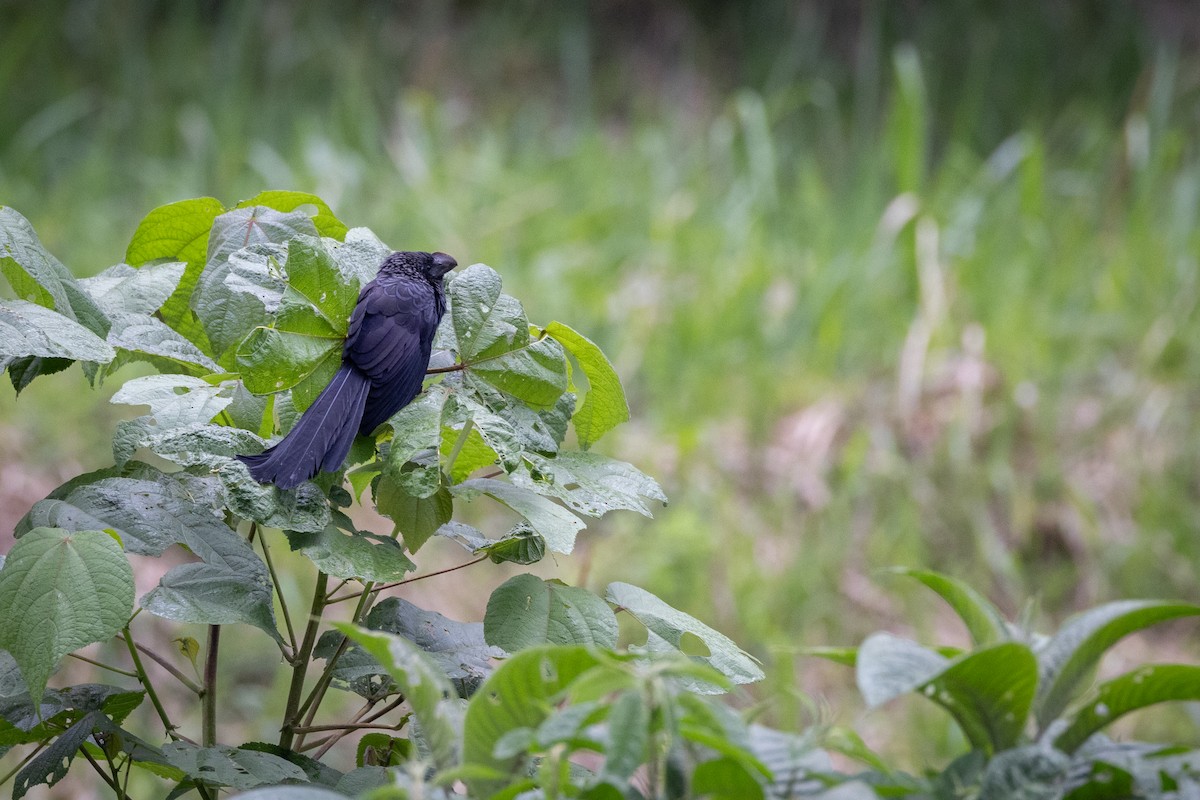
[[[80,275],[263,188],[494,266],[672,499],[550,566],[838,697],[797,648],[958,634],[889,565],[1200,601],[1198,42],[1188,0],[0,0],[0,203]],[[116,385],[0,389],[5,531],[110,463]],[[503,576],[456,575],[422,601],[478,619]]]

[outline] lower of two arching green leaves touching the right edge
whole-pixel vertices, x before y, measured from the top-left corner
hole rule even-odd
[[[1096,697],[1075,711],[1070,724],[1054,744],[1073,753],[1088,736],[1118,717],[1170,700],[1200,700],[1200,667],[1146,664],[1100,684]]]

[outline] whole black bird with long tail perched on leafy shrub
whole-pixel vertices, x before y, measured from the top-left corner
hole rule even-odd
[[[355,434],[370,434],[413,402],[445,313],[445,253],[392,253],[359,293],[342,367],[274,447],[238,456],[259,483],[300,486],[346,461]]]

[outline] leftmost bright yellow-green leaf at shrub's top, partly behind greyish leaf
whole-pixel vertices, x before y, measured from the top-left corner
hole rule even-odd
[[[163,259],[187,264],[161,312],[163,320],[175,330],[190,313],[188,300],[204,269],[209,230],[222,211],[224,207],[211,197],[160,206],[142,219],[125,252],[125,260],[132,266]]]

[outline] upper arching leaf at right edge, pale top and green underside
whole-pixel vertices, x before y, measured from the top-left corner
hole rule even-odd
[[[1080,680],[1109,648],[1144,627],[1200,614],[1200,606],[1156,600],[1105,603],[1067,620],[1037,649],[1040,680],[1034,712],[1044,730],[1062,714]]]

